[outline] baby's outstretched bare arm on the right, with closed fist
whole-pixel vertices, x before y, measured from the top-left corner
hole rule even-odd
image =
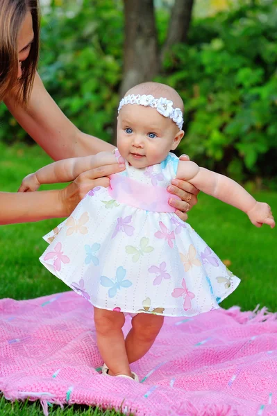
[[[244,211],[257,227],[262,223],[271,225],[272,228],[275,226],[269,205],[257,202],[240,184],[229,177],[200,168],[190,161],[179,162],[177,177],[187,180],[200,191]]]

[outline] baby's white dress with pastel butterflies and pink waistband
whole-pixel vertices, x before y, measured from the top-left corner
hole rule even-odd
[[[119,153],[117,150],[117,157]],[[56,229],[40,261],[101,309],[192,316],[219,308],[240,279],[167,201],[178,157],[112,175]]]

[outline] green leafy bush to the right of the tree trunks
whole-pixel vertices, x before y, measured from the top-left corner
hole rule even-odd
[[[271,177],[277,157],[277,2],[192,23],[165,62],[185,101],[180,150],[237,180]]]

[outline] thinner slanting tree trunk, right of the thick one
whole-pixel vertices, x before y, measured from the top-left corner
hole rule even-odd
[[[161,62],[165,59],[165,55],[171,49],[171,46],[177,43],[187,42],[193,3],[194,0],[175,0],[174,7],[171,11],[167,40],[162,48]]]

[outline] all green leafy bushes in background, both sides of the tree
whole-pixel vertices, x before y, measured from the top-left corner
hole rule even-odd
[[[110,141],[122,74],[122,3],[73,3],[44,15],[40,75],[78,128]],[[236,180],[270,179],[276,171],[276,6],[277,0],[263,0],[194,19],[188,45],[172,49],[157,78],[185,101],[186,135],[178,151]],[[160,44],[167,21],[162,10]],[[0,140],[28,140],[4,105],[0,119]]]

